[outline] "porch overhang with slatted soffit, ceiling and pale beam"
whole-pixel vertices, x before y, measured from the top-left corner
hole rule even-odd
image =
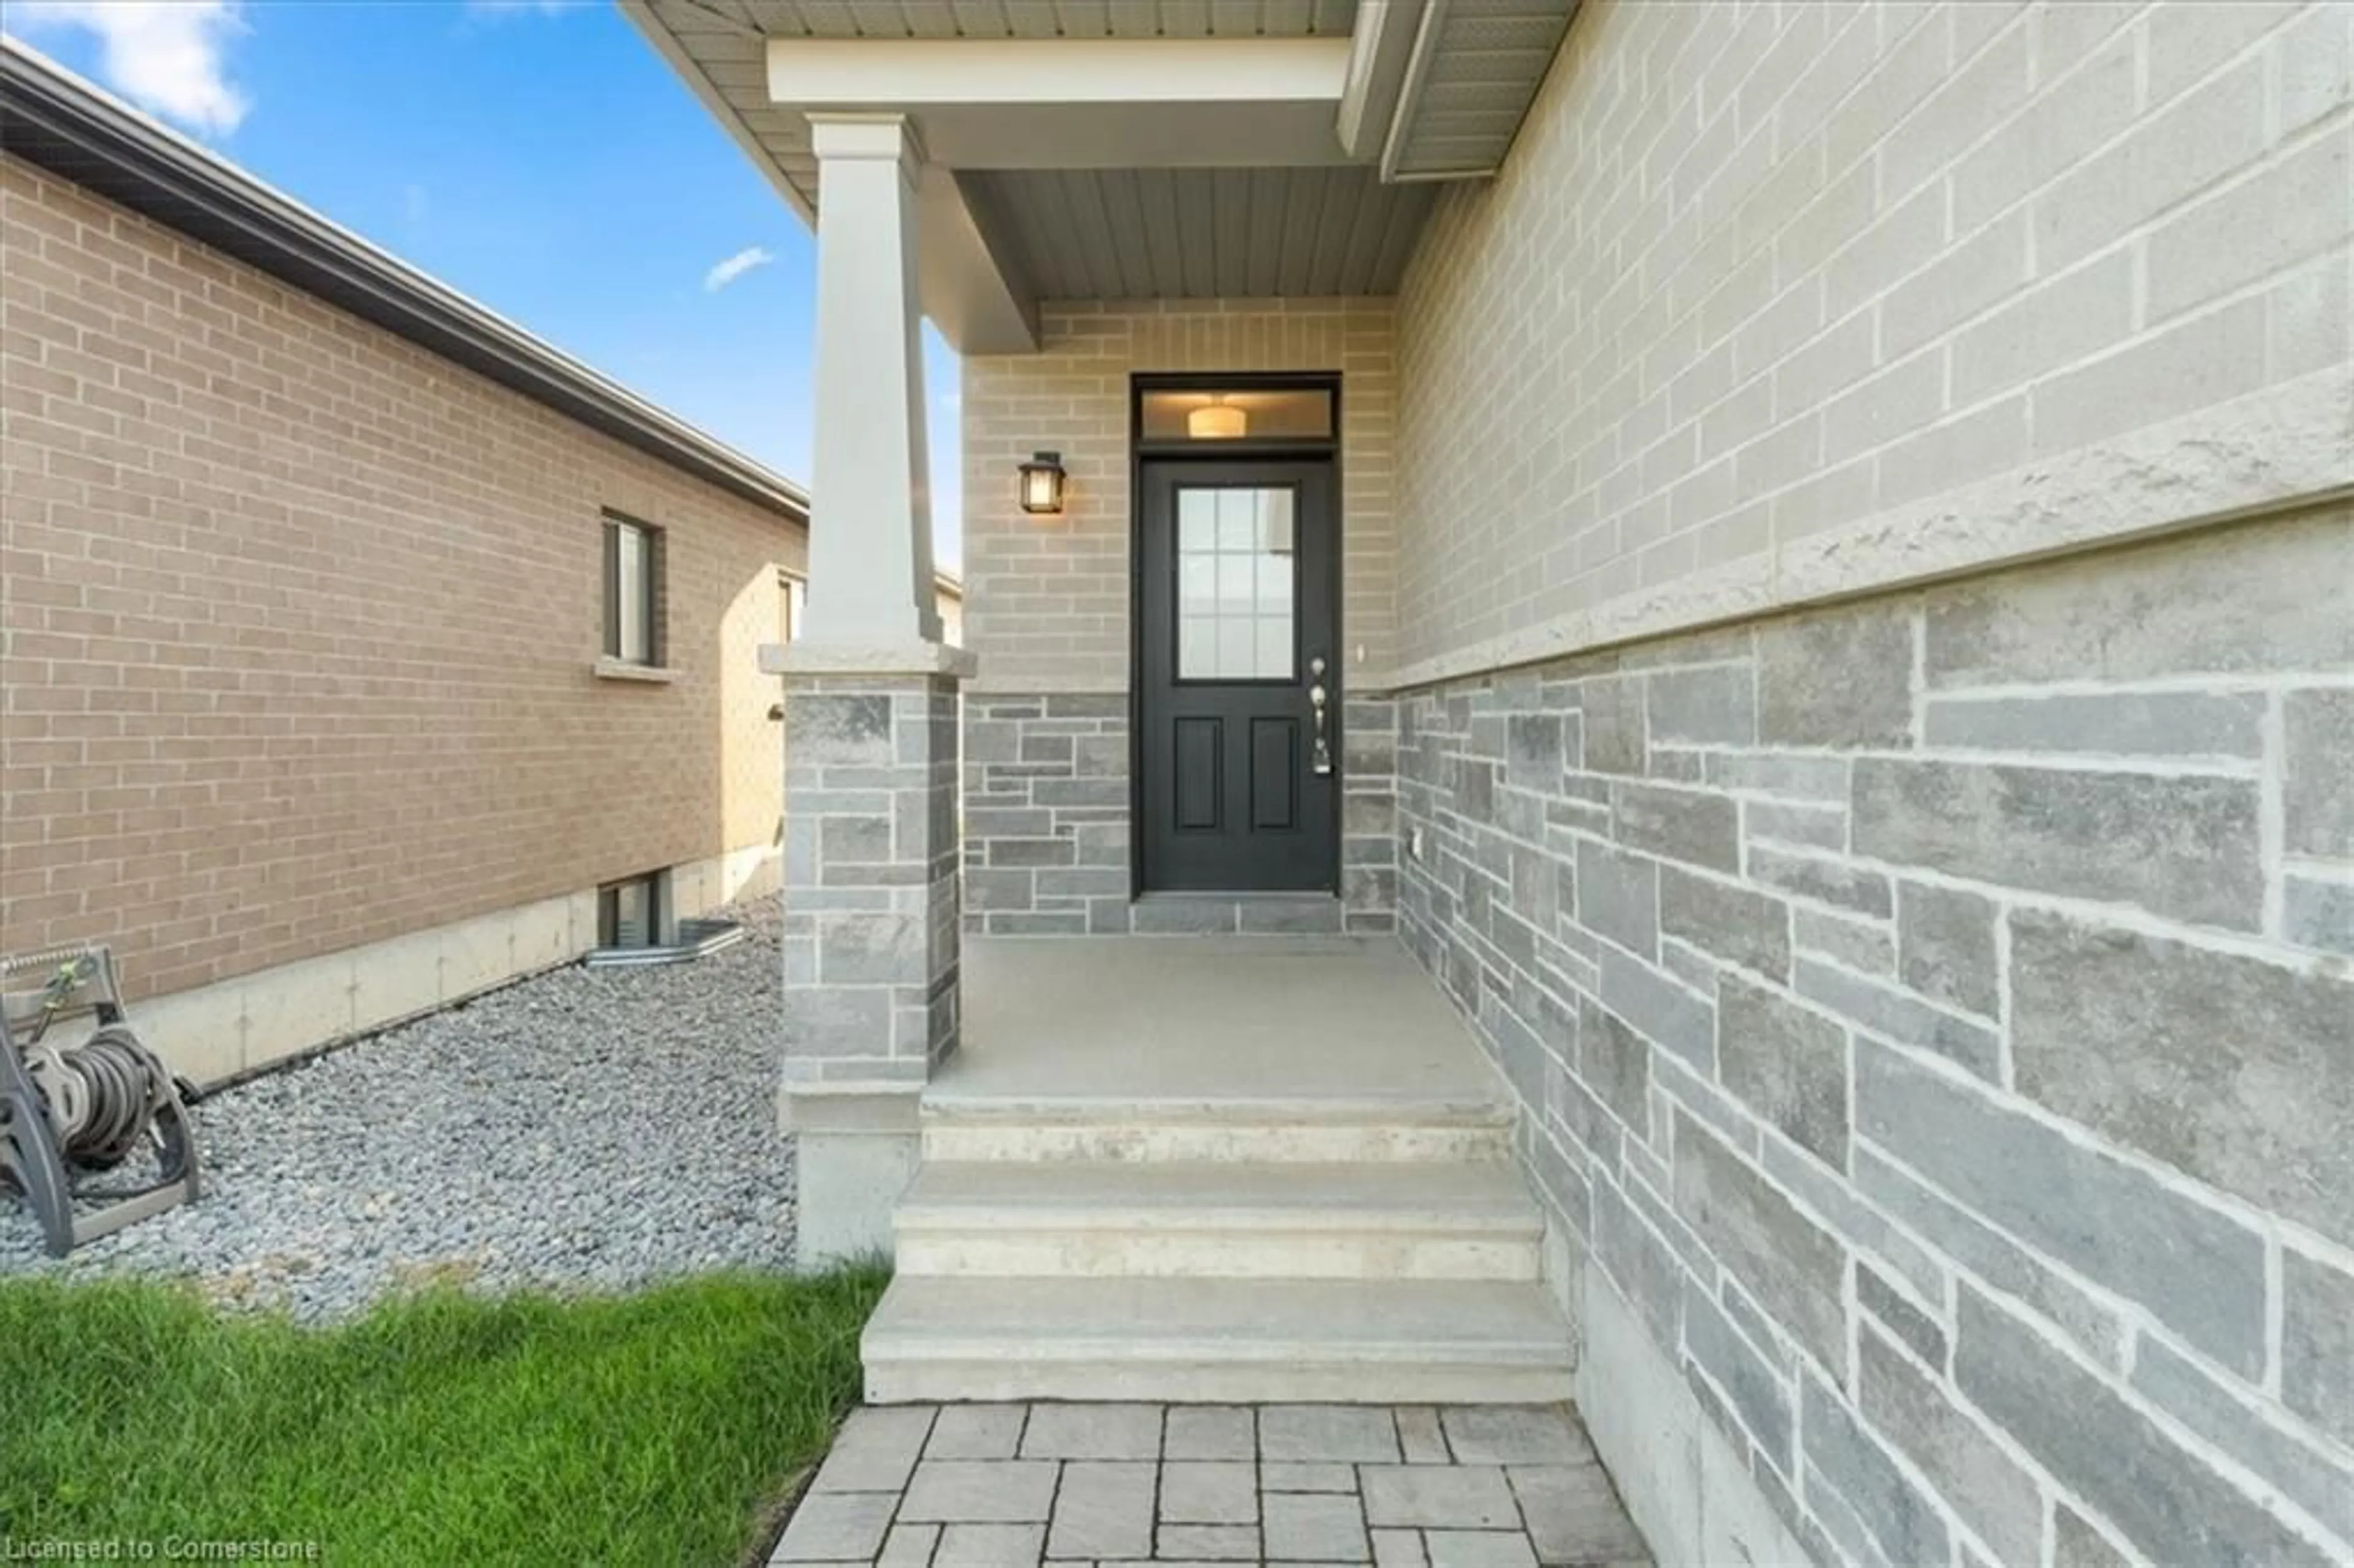
[[[925,315],[1022,353],[1043,299],[1396,292],[1417,181],[1502,162],[1575,0],[624,9],[812,224],[810,115],[899,115]]]

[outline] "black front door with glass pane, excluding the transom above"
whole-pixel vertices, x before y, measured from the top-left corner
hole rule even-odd
[[[1146,892],[1339,888],[1332,511],[1325,459],[1142,464]]]

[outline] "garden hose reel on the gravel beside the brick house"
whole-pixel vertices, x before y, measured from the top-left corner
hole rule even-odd
[[[85,1019],[80,1038],[49,1041]],[[153,1180],[97,1180],[141,1151]],[[52,1257],[200,1191],[195,1125],[132,1031],[106,946],[0,958],[0,1191],[33,1205]]]

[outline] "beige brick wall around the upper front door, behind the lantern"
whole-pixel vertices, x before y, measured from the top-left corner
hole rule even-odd
[[[965,645],[977,690],[1128,690],[1128,396],[1156,370],[1342,374],[1342,638],[1368,690],[1396,638],[1396,365],[1387,299],[1045,306],[1043,351],[965,360]],[[1015,466],[1062,452],[1059,518],[1015,506]]]

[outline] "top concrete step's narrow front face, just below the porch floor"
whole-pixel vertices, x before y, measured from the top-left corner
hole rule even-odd
[[[925,1095],[923,1158],[953,1163],[1502,1161],[1511,1109],[1464,1099],[1031,1099]]]

